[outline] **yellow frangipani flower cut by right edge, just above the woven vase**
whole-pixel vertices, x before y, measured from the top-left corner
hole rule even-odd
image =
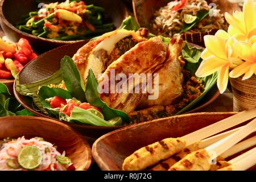
[[[245,74],[242,80],[246,80],[254,74],[256,75],[256,41],[250,41],[250,43],[236,42],[234,43],[234,51],[236,51],[239,57],[245,62],[234,68],[229,76],[237,78]]]

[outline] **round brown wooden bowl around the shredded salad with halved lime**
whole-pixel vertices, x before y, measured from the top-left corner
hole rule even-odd
[[[54,143],[59,152],[66,152],[77,171],[86,171],[92,162],[89,144],[71,127],[52,119],[39,117],[3,117],[0,119],[0,140],[11,137],[42,137]]]

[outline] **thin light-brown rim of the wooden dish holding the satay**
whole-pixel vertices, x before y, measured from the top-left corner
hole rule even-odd
[[[112,132],[110,132],[108,134],[102,135],[100,138],[98,138],[93,143],[93,146],[92,146],[92,156],[93,156],[93,159],[96,161],[97,164],[100,164],[102,170],[109,171],[108,165],[105,164],[104,159],[102,159],[100,157],[100,155],[98,154],[98,152],[97,152],[97,144],[100,143],[102,139],[108,138],[110,135],[117,134],[117,133],[119,133],[121,131],[124,131],[124,130],[134,129],[136,127],[141,127],[143,125],[150,125],[150,123],[154,123],[154,122],[161,122],[163,119],[179,118],[179,117],[182,118],[182,117],[188,117],[188,116],[193,117],[194,115],[213,115],[213,114],[216,114],[216,115],[237,114],[237,112],[202,112],[202,113],[181,114],[181,115],[175,115],[175,116],[167,117],[167,118],[155,119],[153,121],[145,122],[145,123],[139,123],[137,125],[126,126],[126,127],[122,128],[122,129],[114,130],[114,131],[112,131]],[[175,120],[175,121],[177,121],[177,120]]]

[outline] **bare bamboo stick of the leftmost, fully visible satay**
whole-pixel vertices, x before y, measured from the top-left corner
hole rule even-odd
[[[217,123],[204,127],[203,129],[197,130],[191,134],[185,135],[181,137],[186,141],[187,146],[200,141],[202,139],[208,138],[214,134],[220,133],[230,127],[239,125],[249,119],[253,119],[256,117],[256,107],[253,107],[250,110],[243,111],[232,117],[223,119]]]

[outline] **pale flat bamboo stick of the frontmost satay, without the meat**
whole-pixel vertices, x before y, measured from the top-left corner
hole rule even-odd
[[[234,146],[236,143],[240,142],[243,138],[247,137],[254,131],[256,131],[256,119],[248,123],[246,126],[242,127],[242,129],[229,135],[228,137],[205,148],[205,150],[208,151],[208,153],[214,151],[217,156],[220,156],[226,150]]]

